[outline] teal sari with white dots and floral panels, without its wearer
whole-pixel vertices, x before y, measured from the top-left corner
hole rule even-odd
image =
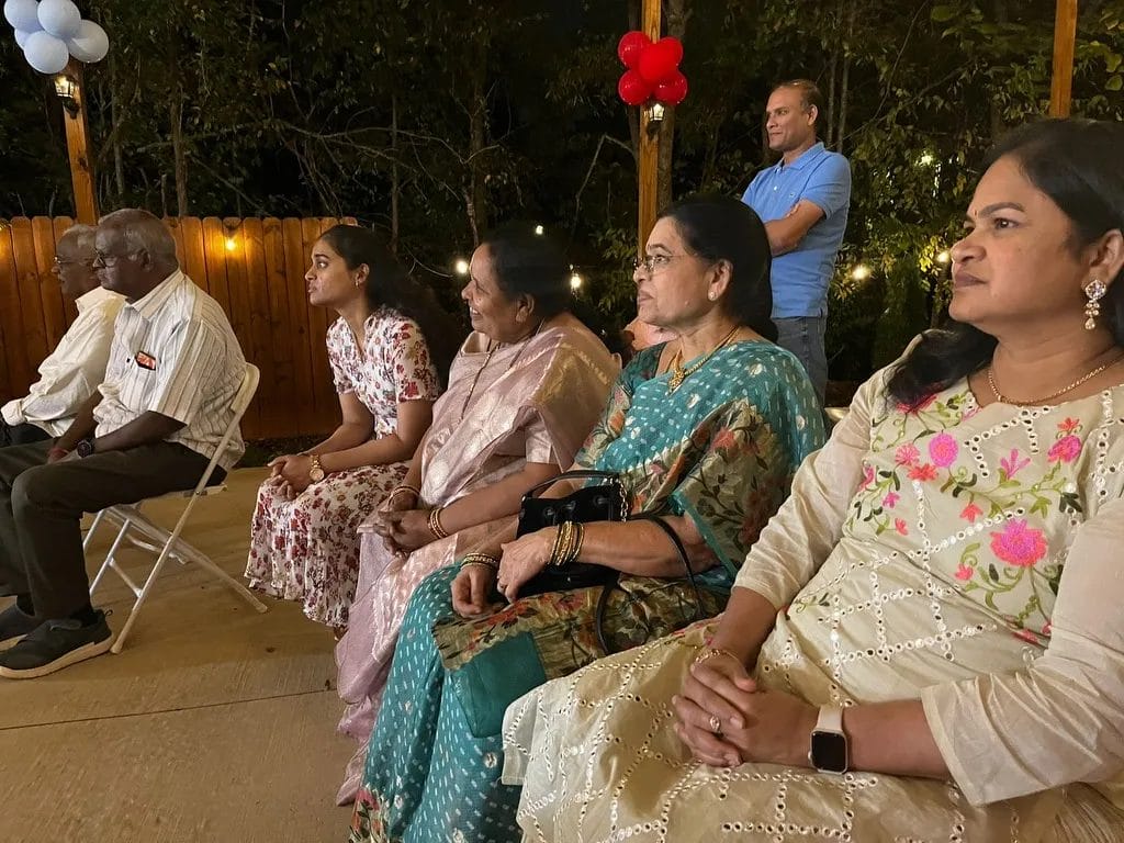
[[[789,352],[735,343],[672,391],[670,375],[656,373],[661,351],[644,350],[622,372],[575,462],[618,474],[633,513],[690,517],[718,564],[696,575],[700,605],[682,579],[622,575],[604,622],[614,649],[723,608],[746,550],[824,437],[815,392]],[[499,781],[504,710],[605,655],[600,588],[535,595],[466,620],[451,605],[456,572],[430,574],[410,600],[355,800],[354,842],[518,840],[518,789]]]

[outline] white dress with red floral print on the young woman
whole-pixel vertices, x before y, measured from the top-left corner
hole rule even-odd
[[[364,328],[361,350],[347,323],[337,319],[328,328],[328,362],[336,391],[354,392],[371,411],[375,439],[395,432],[399,404],[433,401],[439,386],[417,323],[380,308]],[[293,500],[262,483],[246,563],[251,588],[299,600],[312,620],[346,626],[359,579],[357,527],[407,468],[397,462],[336,471]]]

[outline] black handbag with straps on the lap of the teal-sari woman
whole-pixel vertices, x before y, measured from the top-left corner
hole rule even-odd
[[[559,480],[579,480],[601,478],[604,483],[586,486],[577,489],[564,498],[536,498],[535,493],[553,486]],[[553,527],[562,522],[625,522],[625,520],[649,520],[656,525],[671,541],[683,564],[683,571],[691,583],[695,592],[695,617],[698,620],[703,616],[703,598],[699,595],[698,586],[695,582],[695,572],[691,571],[690,562],[687,559],[687,549],[679,541],[676,531],[655,513],[628,514],[628,499],[625,495],[624,483],[620,478],[608,471],[566,471],[558,477],[546,480],[532,487],[523,496],[519,505],[519,526],[516,536],[534,533],[544,527]],[[607,565],[593,565],[588,562],[572,562],[569,565],[546,565],[541,572],[519,588],[519,597],[541,595],[547,591],[569,591],[579,588],[593,588],[601,586],[601,596],[597,601],[597,638],[601,649],[606,653],[613,653],[614,649],[605,636],[605,613],[608,609],[609,596],[617,587],[620,572]],[[691,620],[688,620],[690,623]]]

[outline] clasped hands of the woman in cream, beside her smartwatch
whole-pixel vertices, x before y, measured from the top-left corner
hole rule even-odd
[[[727,653],[690,665],[672,697],[676,734],[710,767],[746,761],[808,767],[808,745],[818,711],[801,699],[759,688]]]

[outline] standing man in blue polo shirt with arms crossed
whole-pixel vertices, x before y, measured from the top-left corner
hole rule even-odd
[[[769,148],[781,154],[759,172],[742,201],[765,224],[772,247],[773,321],[778,344],[808,372],[819,402],[827,386],[827,285],[851,207],[851,165],[816,140],[823,96],[804,79],[769,94]]]

